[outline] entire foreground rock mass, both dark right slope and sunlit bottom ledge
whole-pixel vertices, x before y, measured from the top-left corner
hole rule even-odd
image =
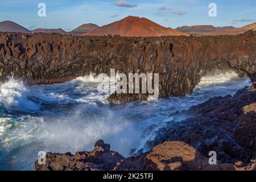
[[[256,170],[256,82],[233,97],[215,97],[180,114],[146,143],[146,154],[124,158],[99,140],[91,152],[47,153],[36,170]],[[178,114],[177,114],[178,116]],[[161,144],[159,144],[161,143]],[[217,152],[217,165],[208,152]]]

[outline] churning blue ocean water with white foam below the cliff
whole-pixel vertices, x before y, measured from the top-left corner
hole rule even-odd
[[[0,83],[0,170],[33,170],[39,151],[92,150],[98,139],[123,156],[143,148],[158,127],[179,122],[176,111],[215,96],[235,94],[251,84],[234,72],[205,76],[185,97],[136,101],[110,107],[97,92],[97,77],[63,84],[28,86],[19,80]]]

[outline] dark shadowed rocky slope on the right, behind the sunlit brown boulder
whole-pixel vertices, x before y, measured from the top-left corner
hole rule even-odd
[[[148,150],[164,140],[177,140],[204,156],[216,151],[222,163],[249,163],[256,158],[256,82],[233,97],[214,97],[175,115],[180,114],[192,116],[156,131],[162,137],[149,140]]]

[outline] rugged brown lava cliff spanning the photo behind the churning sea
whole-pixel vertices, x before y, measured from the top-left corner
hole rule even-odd
[[[233,69],[256,81],[256,32],[236,36],[64,36],[0,33],[0,79],[28,84],[70,81],[90,73],[159,73],[159,96],[191,93],[207,71]],[[124,104],[147,94],[112,94]]]

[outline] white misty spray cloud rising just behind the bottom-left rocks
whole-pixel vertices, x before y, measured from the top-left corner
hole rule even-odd
[[[125,133],[129,126],[129,122],[113,117],[108,109],[106,111],[109,112],[108,116],[97,118],[86,117],[82,109],[66,118],[48,118],[39,138],[53,152],[92,150],[98,139],[117,137]]]

